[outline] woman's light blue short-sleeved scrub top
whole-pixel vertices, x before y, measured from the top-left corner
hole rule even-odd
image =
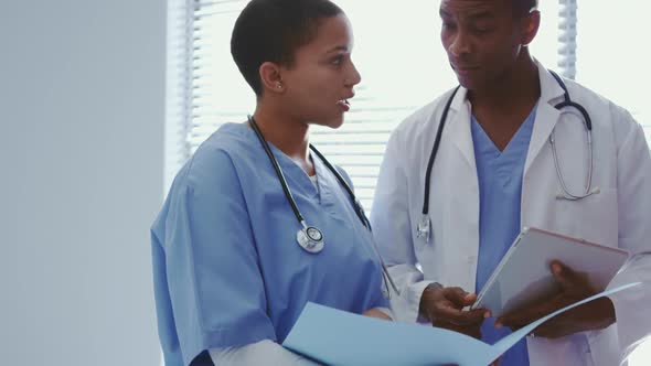
[[[281,343],[308,301],[355,313],[387,306],[372,235],[334,175],[313,157],[316,187],[271,150],[324,248],[310,254],[297,244],[300,225],[255,132],[243,123],[220,128],[181,169],[151,228],[168,366],[210,348]]]

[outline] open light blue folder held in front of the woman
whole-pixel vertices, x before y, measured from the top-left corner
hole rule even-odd
[[[638,284],[641,283],[625,284],[561,309],[511,333],[492,346],[461,333],[384,321],[310,302],[282,346],[326,365],[489,365],[548,319]]]

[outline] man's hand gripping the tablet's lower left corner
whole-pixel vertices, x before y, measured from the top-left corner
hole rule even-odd
[[[474,301],[477,301],[474,293],[433,283],[423,291],[419,313],[434,326],[481,338],[481,323],[490,316],[490,312],[485,309],[462,310],[472,305]]]

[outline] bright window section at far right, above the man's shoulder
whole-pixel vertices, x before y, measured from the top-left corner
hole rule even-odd
[[[577,22],[577,80],[628,109],[644,127],[651,142],[651,53],[643,28],[651,3],[629,0],[626,7],[583,1]]]

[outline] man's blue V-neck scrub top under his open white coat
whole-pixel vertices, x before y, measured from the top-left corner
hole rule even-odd
[[[477,175],[479,179],[479,259],[477,267],[477,293],[506,254],[520,234],[520,204],[522,196],[522,174],[536,108],[504,151],[500,151],[488,137],[479,122],[472,117],[472,141]],[[494,317],[487,319],[482,326],[482,341],[494,344],[511,331],[493,326]],[[529,365],[526,340],[520,341],[509,349],[500,363],[502,366]]]

